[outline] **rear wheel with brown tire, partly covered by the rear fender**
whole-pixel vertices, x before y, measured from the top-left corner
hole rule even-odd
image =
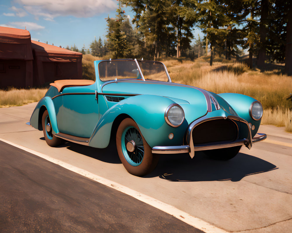
[[[55,147],[55,146],[62,144],[63,140],[59,137],[56,137],[52,133],[53,129],[51,126],[51,121],[50,121],[50,117],[48,114],[48,110],[46,110],[43,114],[43,117],[41,119],[41,125],[43,126],[43,132],[44,132],[44,137],[45,137],[46,143],[49,146]]]

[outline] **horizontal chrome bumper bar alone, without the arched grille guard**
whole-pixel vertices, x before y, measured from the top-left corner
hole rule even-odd
[[[251,140],[251,143],[260,142],[265,140],[267,135],[264,133],[257,133]],[[205,151],[205,150],[213,150],[213,149],[221,149],[227,148],[232,146],[242,146],[247,145],[249,143],[248,139],[243,140],[235,140],[234,142],[221,142],[220,144],[215,143],[204,143],[201,145],[194,146],[193,151]],[[178,153],[190,153],[191,149],[190,146],[154,146],[152,148],[152,153],[157,154],[178,154]]]

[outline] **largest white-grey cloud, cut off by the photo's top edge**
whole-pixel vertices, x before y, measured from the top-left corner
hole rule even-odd
[[[117,8],[115,0],[16,0],[36,18],[53,20],[58,16],[92,17]]]

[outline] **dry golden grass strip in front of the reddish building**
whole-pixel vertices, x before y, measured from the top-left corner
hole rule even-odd
[[[47,88],[0,90],[0,107],[20,106],[39,101],[47,91]]]

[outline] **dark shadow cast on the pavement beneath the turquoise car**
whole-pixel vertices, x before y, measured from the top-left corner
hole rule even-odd
[[[40,138],[44,140],[44,138]],[[104,149],[79,145],[73,142],[65,142],[58,147],[67,149],[85,156],[100,160],[105,163],[119,164],[117,147],[114,140]],[[122,165],[121,165],[122,166]],[[278,169],[272,163],[245,153],[227,161],[209,159],[203,152],[195,153],[193,159],[188,153],[160,155],[157,167],[143,178],[157,177],[168,181],[240,181],[248,175],[268,172]]]

